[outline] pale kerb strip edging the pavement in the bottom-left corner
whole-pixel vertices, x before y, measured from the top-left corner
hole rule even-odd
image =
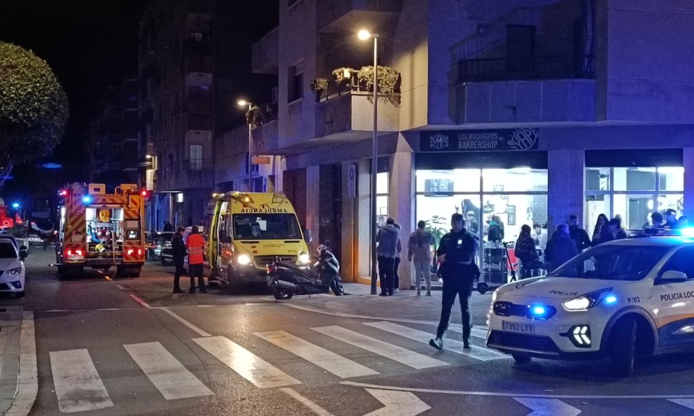
[[[38,394],[38,373],[36,368],[36,327],[34,313],[22,314],[22,334],[20,336],[20,373],[17,375],[17,395],[7,416],[29,415]]]

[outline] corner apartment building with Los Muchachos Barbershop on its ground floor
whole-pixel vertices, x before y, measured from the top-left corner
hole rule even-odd
[[[332,241],[344,279],[368,282],[369,222],[448,229],[466,215],[490,270],[523,224],[694,214],[694,4],[675,0],[281,0],[253,46],[278,79],[276,120],[255,140],[281,155],[283,192]],[[354,71],[399,73],[378,103],[377,215],[369,215],[372,102]],[[325,81],[320,80],[324,78]],[[314,81],[312,83],[312,81]],[[311,88],[313,85],[313,88]],[[685,201],[690,201],[685,205]],[[441,220],[440,218],[443,218]],[[409,267],[400,266],[401,287]]]

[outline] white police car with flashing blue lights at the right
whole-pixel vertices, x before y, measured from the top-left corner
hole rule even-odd
[[[546,276],[496,290],[487,345],[518,364],[609,358],[628,375],[635,357],[694,349],[694,229],[612,241]]]

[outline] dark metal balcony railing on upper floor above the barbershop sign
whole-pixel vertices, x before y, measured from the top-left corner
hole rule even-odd
[[[594,79],[593,55],[467,59],[458,63],[458,82]]]

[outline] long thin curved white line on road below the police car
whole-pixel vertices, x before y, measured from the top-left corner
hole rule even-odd
[[[384,389],[384,390],[397,390],[399,392],[418,392],[418,393],[434,393],[434,394],[455,394],[458,396],[493,396],[493,397],[538,397],[540,399],[694,399],[694,394],[653,394],[653,395],[639,395],[639,396],[628,396],[628,395],[618,395],[618,396],[607,396],[607,395],[597,395],[597,396],[581,396],[574,394],[532,394],[532,393],[499,393],[499,392],[467,392],[462,390],[437,390],[437,389],[418,389],[413,387],[397,387],[397,386],[383,386],[383,385],[371,385],[363,382],[355,381],[341,381],[341,385],[364,387],[367,389]]]

